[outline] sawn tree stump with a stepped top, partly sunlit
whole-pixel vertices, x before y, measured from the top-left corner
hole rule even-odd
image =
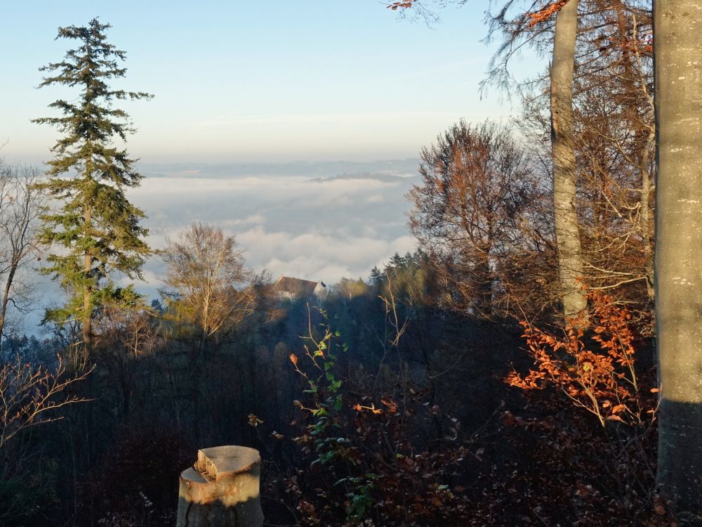
[[[261,527],[260,455],[245,446],[197,451],[180,473],[176,527]]]

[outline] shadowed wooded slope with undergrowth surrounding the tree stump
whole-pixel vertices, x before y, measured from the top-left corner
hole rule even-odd
[[[622,414],[602,427],[557,391],[524,398],[505,382],[532,364],[522,327],[453,308],[427,253],[395,254],[323,299],[283,299],[265,274],[232,285],[211,273],[220,249],[244,273],[232,238],[192,226],[167,249],[159,301],[100,310],[95,369],[66,389],[86,402],[4,448],[5,524],[173,525],[180,470],[220,444],[261,451],[270,523],[658,516],[650,421]],[[185,252],[187,284],[174,263]],[[5,353],[36,362],[62,341],[8,339]],[[65,352],[71,371],[88,367],[80,350]]]

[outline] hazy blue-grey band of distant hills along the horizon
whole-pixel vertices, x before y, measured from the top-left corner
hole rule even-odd
[[[373,162],[319,161],[290,163],[141,163],[139,170],[147,177],[183,178],[227,178],[237,176],[310,176],[330,178],[338,174],[373,174],[390,176],[413,176],[417,173],[419,160],[415,157],[406,160]]]

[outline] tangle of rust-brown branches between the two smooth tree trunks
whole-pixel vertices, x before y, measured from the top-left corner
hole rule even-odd
[[[654,112],[651,53],[641,37],[651,20],[642,6],[608,7],[583,18],[574,84],[585,281],[615,290],[647,318],[654,299]]]

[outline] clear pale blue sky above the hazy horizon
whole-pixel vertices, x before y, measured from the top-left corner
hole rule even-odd
[[[0,155],[50,157],[58,132],[29,119],[68,95],[34,89],[38,68],[71,46],[53,40],[57,27],[98,15],[127,52],[120,86],[156,96],[121,105],[143,162],[416,157],[461,117],[510,113],[498,96],[479,98],[494,51],[480,42],[486,8],[449,6],[427,27],[378,0],[7,2]]]

